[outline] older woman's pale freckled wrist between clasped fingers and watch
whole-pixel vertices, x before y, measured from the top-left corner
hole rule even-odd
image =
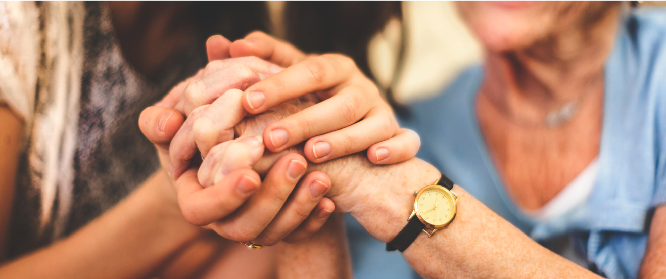
[[[329,174],[334,185],[330,198],[338,210],[350,212],[372,236],[389,242],[412,213],[412,193],[432,184],[440,172],[418,158],[376,165],[363,155],[352,156],[356,157],[344,162],[344,172],[332,174],[322,170]]]

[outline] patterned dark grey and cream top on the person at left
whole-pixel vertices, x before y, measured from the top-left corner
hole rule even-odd
[[[106,2],[0,2],[0,103],[25,120],[10,256],[71,234],[159,168],[139,114],[205,65],[201,39],[150,81],[123,58]]]

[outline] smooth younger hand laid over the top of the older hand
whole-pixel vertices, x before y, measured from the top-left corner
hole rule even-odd
[[[263,134],[269,150],[278,152],[307,140],[304,153],[312,162],[366,149],[374,164],[392,164],[416,156],[418,135],[400,129],[376,85],[349,57],[308,56],[261,32],[235,41],[229,53],[231,57],[259,57],[286,67],[244,90],[242,105],[248,113],[263,113],[313,92],[323,100],[269,125]]]

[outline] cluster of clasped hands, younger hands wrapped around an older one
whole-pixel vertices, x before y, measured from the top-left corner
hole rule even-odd
[[[314,168],[336,176],[334,158],[367,149],[391,164],[420,146],[348,57],[307,57],[259,32],[206,49],[206,68],[139,119],[194,225],[256,244],[308,237],[335,208],[325,195],[352,190]]]

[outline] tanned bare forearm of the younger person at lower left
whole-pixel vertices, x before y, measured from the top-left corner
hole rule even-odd
[[[111,210],[75,234],[9,262],[0,278],[144,278],[192,241],[168,183],[157,172]]]

